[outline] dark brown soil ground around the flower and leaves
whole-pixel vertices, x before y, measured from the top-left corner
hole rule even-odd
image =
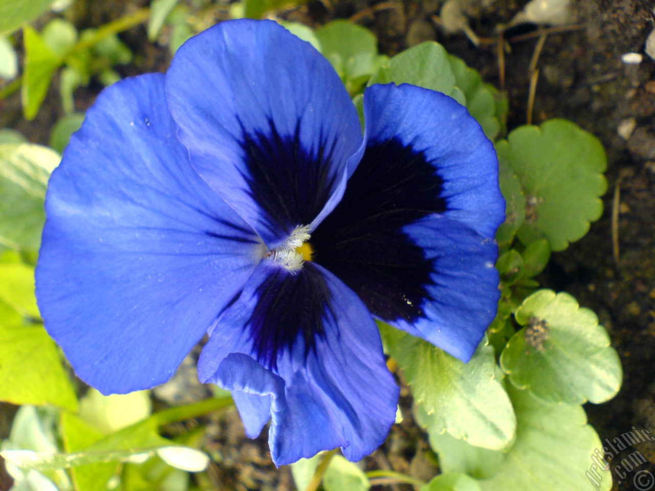
[[[75,8],[82,9],[76,15],[78,27],[98,26],[145,3],[78,2]],[[472,10],[470,16],[470,26],[481,39],[477,46],[462,33],[447,34],[438,26],[434,19],[440,6],[437,0],[312,0],[283,16],[312,26],[350,18],[372,29],[380,51],[388,55],[428,39],[439,41],[478,69],[485,81],[506,91],[511,130],[527,122],[529,66],[539,32],[536,26],[504,31],[504,56],[499,57],[498,31],[527,1],[484,3],[488,5]],[[582,306],[597,312],[620,354],[625,375],[622,390],[608,403],[586,405],[589,421],[601,439],[611,440],[633,426],[655,433],[655,62],[646,54],[639,65],[621,60],[627,52],[644,53],[646,37],[655,27],[655,2],[572,0],[572,6],[570,24],[549,31],[536,60],[540,75],[532,121],[539,124],[549,118],[568,118],[599,137],[608,156],[608,192],[603,198],[603,217],[591,225],[585,238],[553,255],[540,280],[545,287],[569,291]],[[168,50],[147,43],[143,27],[131,29],[121,39],[139,60],[138,68],[128,65],[119,69],[121,75],[166,69]],[[17,95],[0,102],[0,126],[16,128],[31,141],[47,144],[50,127],[62,111],[56,86],[52,84],[47,102],[33,122],[20,117]],[[86,109],[99,90],[100,86],[78,90],[78,109]],[[620,126],[631,125],[629,134],[618,133]],[[614,234],[612,220],[615,225],[618,222]],[[619,246],[618,255],[613,241]],[[404,395],[404,422],[394,426],[385,445],[366,465],[429,479],[436,469],[429,452],[415,452],[417,441],[419,449],[428,446],[412,422],[406,389]],[[7,421],[6,417],[0,419],[0,431],[5,435]],[[210,429],[211,446],[221,460],[210,469],[217,489],[293,489],[289,470],[277,470],[271,464],[265,435],[255,441],[246,439],[234,412],[211,422]],[[655,445],[648,444],[637,446],[650,461],[640,468],[655,473]],[[635,489],[630,476],[620,480],[614,476],[614,490]],[[7,484],[4,480],[5,487],[0,489]],[[410,490],[411,486],[392,488]]]

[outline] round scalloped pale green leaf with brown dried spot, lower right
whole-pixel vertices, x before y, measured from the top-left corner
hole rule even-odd
[[[602,403],[618,392],[621,363],[607,331],[568,293],[539,290],[515,314],[526,325],[500,355],[514,386],[543,401]]]

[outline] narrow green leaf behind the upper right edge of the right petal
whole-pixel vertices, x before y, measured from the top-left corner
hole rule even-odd
[[[464,60],[452,54],[449,55],[449,60],[455,74],[455,85],[464,92],[468,111],[482,126],[487,138],[495,139],[500,132],[500,121],[496,115],[498,91],[485,84],[477,70],[466,66]]]

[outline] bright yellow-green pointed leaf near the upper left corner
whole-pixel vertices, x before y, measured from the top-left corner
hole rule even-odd
[[[25,42],[25,72],[20,89],[23,113],[26,119],[33,119],[45,99],[54,72],[62,65],[63,58],[53,52],[37,31],[23,27]]]

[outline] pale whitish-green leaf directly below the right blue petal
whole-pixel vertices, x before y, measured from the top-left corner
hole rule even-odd
[[[390,350],[403,369],[429,434],[447,431],[471,445],[504,448],[516,420],[502,384],[495,380],[495,355],[487,338],[468,363],[409,334]]]

